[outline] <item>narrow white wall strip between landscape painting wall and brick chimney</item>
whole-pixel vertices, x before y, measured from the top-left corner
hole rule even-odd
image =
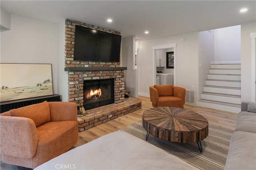
[[[65,20],[58,24],[58,94],[63,102],[68,101],[68,72],[65,67]]]

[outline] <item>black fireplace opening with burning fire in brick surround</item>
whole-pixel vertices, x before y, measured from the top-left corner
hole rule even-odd
[[[114,103],[114,78],[84,81],[86,110]]]

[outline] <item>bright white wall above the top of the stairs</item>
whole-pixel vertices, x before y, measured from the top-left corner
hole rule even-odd
[[[240,25],[214,29],[214,61],[240,61]]]

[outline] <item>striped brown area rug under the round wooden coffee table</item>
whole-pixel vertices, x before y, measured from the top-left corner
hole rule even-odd
[[[146,131],[142,127],[142,121],[124,127],[120,131],[130,133],[146,141]],[[202,153],[199,151],[197,143],[168,142],[152,135],[149,135],[147,142],[201,170],[223,170],[233,132],[222,127],[209,125],[208,137],[201,141]]]

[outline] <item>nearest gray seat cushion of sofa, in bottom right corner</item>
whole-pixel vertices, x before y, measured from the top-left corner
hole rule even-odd
[[[255,133],[234,132],[230,141],[225,170],[255,170],[255,150]]]

